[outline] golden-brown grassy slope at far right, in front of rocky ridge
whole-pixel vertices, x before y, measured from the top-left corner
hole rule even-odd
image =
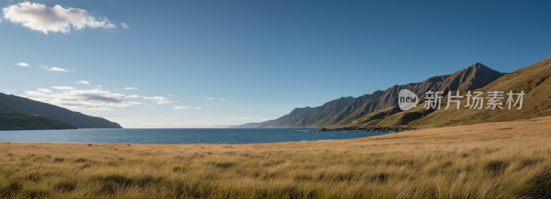
[[[503,109],[496,108],[492,110],[491,108],[486,108],[488,107],[488,99],[484,100],[484,106],[481,109],[466,108],[467,99],[464,97],[461,99],[461,108],[459,110],[457,108],[441,108],[427,114],[425,117],[413,119],[400,125],[418,127],[455,126],[549,116],[551,115],[550,77],[551,57],[529,67],[503,75],[503,77],[495,82],[476,90],[483,91],[484,95],[482,96],[485,98],[488,97],[488,92],[490,91],[503,91],[503,99],[500,101],[503,104]],[[509,107],[506,105],[506,102],[509,96],[506,93],[510,91],[513,91],[513,93],[521,93],[521,91],[525,93],[521,109],[518,109],[519,104],[517,104],[517,106],[512,106],[511,110],[508,110]],[[515,102],[517,101],[517,97],[518,95],[513,96]],[[472,99],[470,103],[472,104]],[[423,110],[420,110],[418,106],[406,111],[406,113],[417,113],[419,111]]]

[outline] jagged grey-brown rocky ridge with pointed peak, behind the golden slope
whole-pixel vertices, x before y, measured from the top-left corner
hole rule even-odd
[[[476,63],[466,69],[450,75],[440,75],[428,78],[423,82],[395,85],[386,91],[375,91],[371,94],[357,98],[341,97],[315,108],[295,108],[288,115],[278,119],[264,121],[262,124],[247,124],[247,126],[235,126],[237,128],[339,128],[350,126],[376,126],[379,121],[401,113],[397,108],[398,93],[402,89],[408,89],[417,96],[419,101],[424,100],[426,91],[472,91],[482,88],[506,73],[492,70],[480,63]],[[430,110],[419,110],[401,117],[404,121],[412,121],[417,117],[428,115]],[[401,121],[400,124],[404,123]]]

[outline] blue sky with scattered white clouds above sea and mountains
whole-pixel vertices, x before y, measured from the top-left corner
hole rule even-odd
[[[551,1],[0,0],[0,92],[124,128],[275,119],[551,56]]]

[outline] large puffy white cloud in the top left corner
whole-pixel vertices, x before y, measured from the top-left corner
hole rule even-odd
[[[85,27],[114,28],[116,25],[107,18],[96,19],[86,10],[79,8],[63,8],[55,5],[48,8],[43,4],[23,2],[3,8],[3,18],[12,23],[23,25],[32,30],[38,30],[44,34],[48,32],[67,33],[74,30],[82,30]]]

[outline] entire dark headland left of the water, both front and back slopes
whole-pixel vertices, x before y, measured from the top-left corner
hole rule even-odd
[[[19,120],[15,120],[19,118]],[[25,97],[0,93],[0,128],[123,128],[107,119],[74,112]]]

